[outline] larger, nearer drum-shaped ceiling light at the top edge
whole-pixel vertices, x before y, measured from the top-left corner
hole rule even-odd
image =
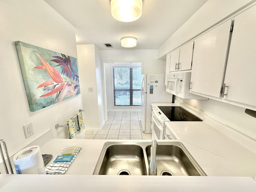
[[[122,22],[132,22],[142,14],[142,0],[111,0],[112,16]]]

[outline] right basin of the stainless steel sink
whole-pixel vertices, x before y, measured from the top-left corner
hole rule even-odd
[[[150,146],[146,147],[150,163]],[[157,175],[168,176],[201,176],[205,175],[188,150],[180,142],[158,144],[156,147]]]

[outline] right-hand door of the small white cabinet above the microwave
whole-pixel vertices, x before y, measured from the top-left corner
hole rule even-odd
[[[178,70],[190,70],[192,65],[194,41],[182,46],[180,48],[180,59]]]

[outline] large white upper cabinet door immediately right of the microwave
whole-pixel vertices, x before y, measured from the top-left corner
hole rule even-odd
[[[231,20],[198,37],[194,43],[191,92],[220,97]]]

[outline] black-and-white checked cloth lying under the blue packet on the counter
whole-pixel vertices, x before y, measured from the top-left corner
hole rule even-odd
[[[68,146],[66,146],[67,148]],[[66,149],[65,148],[65,149]],[[65,150],[64,149],[64,150]],[[51,163],[49,166],[45,168],[46,174],[65,174],[65,172],[68,170],[68,167],[72,164],[76,156],[80,153],[80,150],[82,147],[78,147],[76,149],[76,152],[74,153],[74,157],[72,158],[71,162],[56,162]],[[63,150],[63,151],[64,151]]]

